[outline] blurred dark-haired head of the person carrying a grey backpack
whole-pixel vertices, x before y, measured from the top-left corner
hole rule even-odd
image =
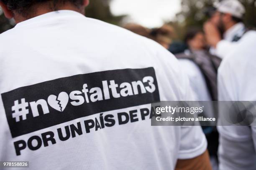
[[[204,32],[198,28],[188,29],[184,41],[190,50],[203,50],[206,47]]]

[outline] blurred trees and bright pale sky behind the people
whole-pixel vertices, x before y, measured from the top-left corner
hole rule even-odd
[[[218,0],[90,0],[86,16],[123,26],[137,23],[147,28],[171,25],[174,39],[183,40],[189,27],[200,27],[207,20],[205,10]],[[240,0],[246,7],[245,24],[256,27],[256,0]],[[0,33],[13,28],[0,10]]]

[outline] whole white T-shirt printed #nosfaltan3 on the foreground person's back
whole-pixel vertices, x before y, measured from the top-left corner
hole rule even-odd
[[[151,126],[150,103],[193,100],[178,61],[156,42],[61,10],[17,24],[0,46],[0,160],[172,170],[205,152],[199,126]]]

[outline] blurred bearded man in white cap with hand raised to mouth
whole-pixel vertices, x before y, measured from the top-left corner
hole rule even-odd
[[[204,28],[208,43],[215,48],[211,52],[223,58],[236,45],[233,42],[240,40],[246,32],[242,19],[245,7],[238,0],[222,0],[215,7],[216,12]]]

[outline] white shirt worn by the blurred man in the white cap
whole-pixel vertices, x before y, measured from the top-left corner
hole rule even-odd
[[[237,23],[236,25],[228,29],[223,35],[223,40],[218,42],[216,46],[215,55],[219,56],[220,58],[226,56],[227,53],[232,51],[237,45],[237,42],[232,42],[234,37],[242,37],[244,32],[245,25],[243,23]]]

